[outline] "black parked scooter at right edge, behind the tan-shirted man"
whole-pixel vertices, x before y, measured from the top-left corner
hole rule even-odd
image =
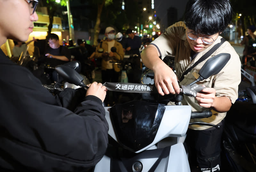
[[[239,97],[225,117],[223,154],[231,172],[256,171],[256,86],[253,76],[241,69],[251,86],[244,81]]]

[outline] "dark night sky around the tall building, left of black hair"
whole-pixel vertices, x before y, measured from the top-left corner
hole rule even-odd
[[[161,19],[164,27],[167,26],[167,9],[175,7],[178,10],[178,19],[180,19],[185,11],[188,0],[154,0],[156,15]]]

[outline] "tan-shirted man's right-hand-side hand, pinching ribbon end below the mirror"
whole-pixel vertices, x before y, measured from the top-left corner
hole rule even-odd
[[[205,87],[203,85],[203,87]],[[198,105],[209,108],[214,106],[216,90],[214,88],[205,88],[196,94],[196,101]]]

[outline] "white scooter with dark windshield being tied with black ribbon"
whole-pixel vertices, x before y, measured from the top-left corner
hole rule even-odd
[[[229,57],[226,55],[223,53],[208,60],[195,82],[218,74],[230,58],[229,54]],[[76,71],[73,70],[73,72]],[[68,82],[78,85],[82,82],[79,79],[75,81],[76,78],[69,81],[68,77],[76,75],[68,73],[65,74],[62,70],[61,74],[67,77]],[[191,85],[194,86],[194,82],[183,87],[185,95],[191,91],[186,90]],[[109,145],[106,154],[95,166],[94,172],[189,172],[188,157],[183,146],[184,140],[182,140],[188,125],[217,127],[203,122],[189,123],[190,118],[212,115],[208,111],[191,113],[191,106],[165,106],[158,102],[135,100],[105,107],[105,110],[109,125]],[[173,140],[166,141],[167,138],[173,138]]]

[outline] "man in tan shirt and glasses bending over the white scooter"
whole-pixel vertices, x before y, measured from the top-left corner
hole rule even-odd
[[[220,171],[223,119],[238,97],[238,84],[241,81],[240,59],[234,48],[226,41],[210,57],[186,74],[182,81],[180,77],[215,44],[220,43],[220,34],[230,24],[231,19],[232,8],[228,0],[189,0],[185,21],[168,27],[164,34],[156,38],[141,53],[142,62],[155,73],[154,81],[160,95],[179,94],[180,85],[195,81],[206,60],[220,53],[231,55],[219,74],[197,82],[206,88],[198,92],[195,98],[183,98],[182,105],[190,105],[192,111],[209,109],[213,112],[210,118],[193,121],[220,126],[220,129],[202,125],[189,127],[186,142],[191,150],[191,170],[193,166],[199,166],[199,170],[203,172]],[[176,74],[163,62],[167,55],[175,56]],[[196,160],[197,164],[194,162]]]

